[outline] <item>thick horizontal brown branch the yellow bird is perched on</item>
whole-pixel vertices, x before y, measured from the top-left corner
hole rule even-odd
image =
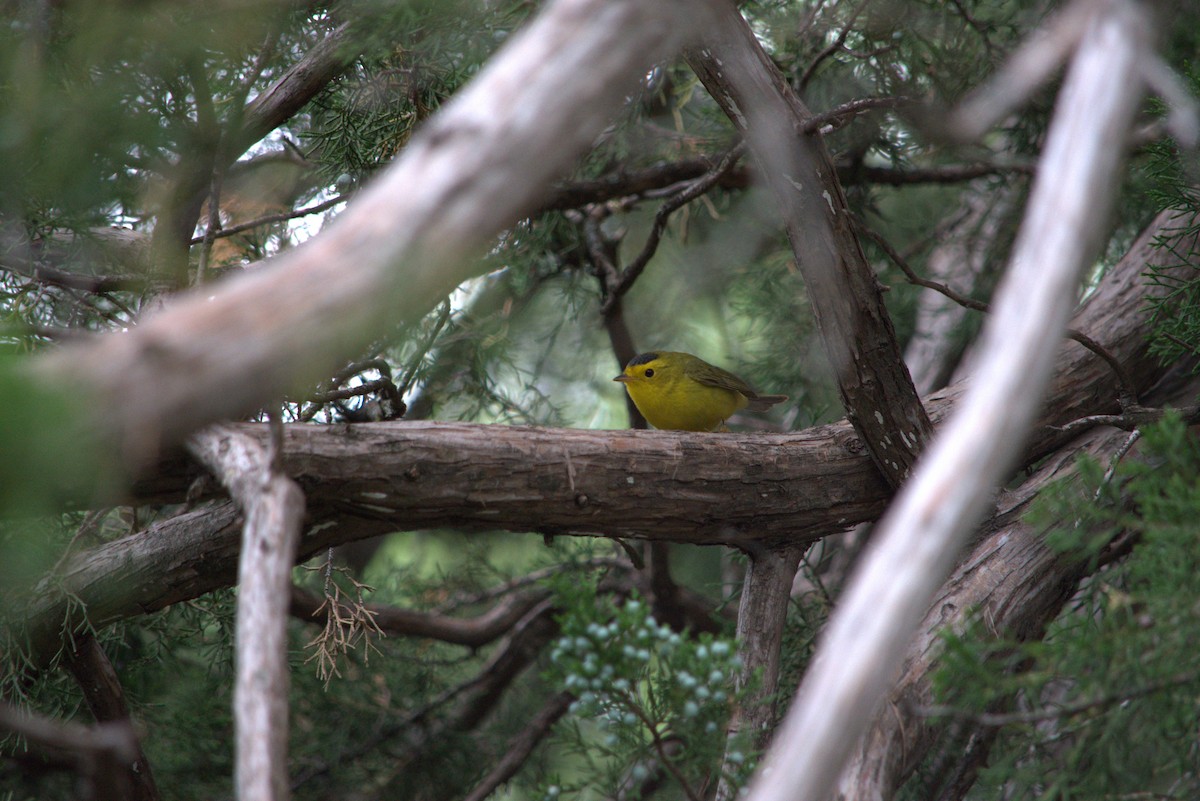
[[[1165,269],[1152,243],[1180,224],[1160,215],[1073,320],[1140,390],[1162,372],[1148,356],[1146,301],[1162,297],[1169,283],[1151,285],[1141,276],[1156,259]],[[1116,412],[1117,386],[1104,361],[1063,344],[1022,463],[1069,441],[1055,427]],[[935,421],[962,389],[925,398]],[[259,424],[238,428],[266,435]],[[845,421],[772,435],[438,422],[288,426],[282,458],[305,490],[310,520],[358,518],[392,530],[457,525],[745,548],[802,543],[875,519],[888,499]],[[178,501],[197,475],[182,459],[164,462],[134,486],[134,498]]]

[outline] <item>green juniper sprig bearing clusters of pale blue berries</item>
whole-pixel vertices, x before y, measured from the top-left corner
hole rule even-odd
[[[562,637],[546,680],[575,695],[557,734],[578,767],[576,776],[548,779],[546,799],[590,799],[589,788],[664,781],[680,797],[701,797],[722,754],[736,784],[749,778],[754,755],[736,743],[726,751],[739,692],[733,676],[742,669],[732,639],[680,636],[636,595],[617,603],[594,584],[557,582],[556,590]]]

